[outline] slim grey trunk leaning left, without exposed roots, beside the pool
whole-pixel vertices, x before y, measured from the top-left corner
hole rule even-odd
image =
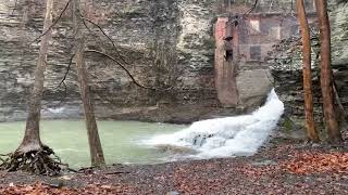
[[[82,25],[82,16],[80,16],[80,1],[74,0],[73,1],[73,9],[74,9],[74,32],[75,32],[75,47],[76,47],[76,53],[75,53],[75,61],[76,61],[76,68],[77,68],[77,76],[78,76],[78,82],[79,82],[79,89],[80,89],[80,98],[84,104],[84,110],[85,110],[85,119],[86,119],[86,126],[87,126],[87,135],[88,135],[88,143],[89,143],[89,150],[90,150],[90,158],[91,158],[91,166],[103,166],[104,162],[104,156],[98,134],[98,127],[97,121],[95,117],[95,110],[94,110],[94,100],[89,92],[88,87],[88,76],[87,76],[87,69],[85,64],[85,56],[84,56],[84,35],[80,29]]]

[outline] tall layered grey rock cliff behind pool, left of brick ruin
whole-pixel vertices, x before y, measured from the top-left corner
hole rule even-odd
[[[25,118],[39,47],[33,40],[42,28],[45,2],[16,2],[0,0],[0,120]],[[167,91],[141,89],[115,62],[87,53],[90,88],[99,117],[191,121],[239,112],[221,108],[214,89],[213,24],[216,15],[223,13],[223,0],[83,2],[85,16],[97,23],[115,44],[113,47],[96,26],[87,23],[86,49],[114,56],[144,86],[171,88]],[[282,10],[290,1],[279,1],[272,8],[268,2],[271,1],[262,1],[258,10]],[[235,3],[240,11],[252,1]],[[63,8],[64,2],[57,1],[55,18]],[[74,63],[65,84],[58,88],[74,52],[71,17],[69,8],[53,28],[42,103],[46,118],[82,115]],[[253,83],[251,72],[246,69],[246,77],[238,80]],[[244,99],[249,100],[248,96]]]

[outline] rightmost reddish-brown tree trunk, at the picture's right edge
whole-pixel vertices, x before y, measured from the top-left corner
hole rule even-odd
[[[339,144],[343,142],[343,139],[334,109],[333,77],[331,69],[331,29],[326,0],[315,0],[315,8],[321,40],[321,88],[325,126],[327,129],[328,142]]]

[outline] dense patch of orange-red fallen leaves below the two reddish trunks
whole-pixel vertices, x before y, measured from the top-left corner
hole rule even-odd
[[[283,167],[291,173],[348,173],[348,153],[303,153],[286,161]]]

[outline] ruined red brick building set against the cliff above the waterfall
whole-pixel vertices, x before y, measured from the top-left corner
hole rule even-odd
[[[225,13],[214,25],[215,88],[224,107],[236,107],[241,103],[235,78],[238,69],[266,68],[268,53],[273,46],[299,34],[299,27],[296,10],[247,13],[243,6],[234,8],[233,0],[223,3]],[[308,0],[306,4],[311,24],[315,21],[314,2]]]

